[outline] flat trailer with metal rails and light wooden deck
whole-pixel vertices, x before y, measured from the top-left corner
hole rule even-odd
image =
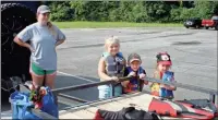
[[[129,79],[123,77],[121,80],[126,81]],[[152,79],[152,77],[146,77],[146,80],[148,82],[156,82],[156,83],[160,83],[160,84],[173,85],[177,87],[182,87],[182,88],[187,88],[187,89],[209,94],[209,100],[211,100],[214,104],[215,104],[216,96],[218,95],[216,89],[204,88],[204,87],[181,84],[181,83],[162,82],[162,81]],[[109,111],[119,111],[123,107],[130,107],[130,106],[134,106],[136,109],[143,109],[143,110],[147,111],[152,99],[154,97],[158,98],[157,96],[153,96],[145,91],[136,92],[133,94],[125,94],[120,97],[114,97],[114,98],[110,98],[110,99],[95,100],[95,101],[87,101],[87,100],[84,100],[81,98],[74,98],[69,95],[62,94],[62,93],[69,92],[69,91],[83,89],[83,88],[88,88],[88,87],[94,87],[94,86],[110,84],[110,83],[112,83],[112,81],[88,83],[88,84],[82,84],[82,85],[76,85],[76,86],[68,86],[68,87],[52,89],[53,94],[58,94],[59,104],[61,101],[62,104],[70,106],[70,107],[68,107],[68,109],[64,108],[64,110],[59,111],[59,119],[93,119],[95,117],[97,109],[104,109],[104,110],[109,110]],[[59,98],[59,97],[65,97],[65,98]],[[76,100],[76,99],[77,99],[77,101],[80,101],[82,104],[73,105],[72,100]],[[34,109],[32,109],[32,111],[39,118],[55,119],[52,116],[50,116],[46,112],[36,111]],[[11,110],[9,112],[4,112],[4,113],[1,112],[1,115],[4,116],[1,119],[5,119],[5,118],[10,119],[12,117]],[[177,119],[177,118],[172,118],[172,117],[161,117],[161,118],[162,119]],[[178,118],[178,119],[181,119],[181,118]]]

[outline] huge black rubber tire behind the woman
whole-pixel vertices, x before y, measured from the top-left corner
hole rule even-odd
[[[20,76],[29,74],[31,51],[13,41],[15,35],[27,25],[36,22],[36,14],[20,3],[1,4],[1,76]]]

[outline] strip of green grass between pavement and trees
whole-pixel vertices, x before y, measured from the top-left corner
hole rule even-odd
[[[59,28],[181,27],[179,23],[53,22]]]

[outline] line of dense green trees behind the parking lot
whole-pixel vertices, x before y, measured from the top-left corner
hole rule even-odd
[[[51,21],[181,23],[218,14],[218,1],[48,1]]]

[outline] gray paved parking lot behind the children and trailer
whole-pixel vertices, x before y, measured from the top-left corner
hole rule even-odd
[[[168,28],[86,28],[62,29],[68,40],[58,47],[56,87],[97,82],[97,63],[104,51],[105,38],[114,35],[121,51],[142,56],[147,75],[155,70],[155,56],[168,51],[172,71],[180,83],[217,89],[217,31]],[[78,79],[86,77],[86,79]],[[148,89],[146,86],[145,89]],[[97,99],[97,87],[65,93],[86,100]],[[204,98],[206,94],[178,88],[175,99]],[[63,105],[61,105],[63,107]],[[3,106],[9,108],[9,104]]]

